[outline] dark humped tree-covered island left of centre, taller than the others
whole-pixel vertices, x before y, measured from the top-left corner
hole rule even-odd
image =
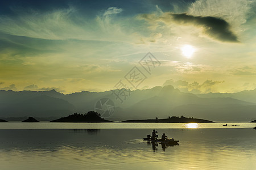
[[[97,112],[90,111],[86,114],[72,114],[67,117],[61,117],[57,120],[53,120],[51,122],[85,122],[85,123],[94,123],[94,122],[113,122],[109,120],[105,120],[100,117],[100,114]]]

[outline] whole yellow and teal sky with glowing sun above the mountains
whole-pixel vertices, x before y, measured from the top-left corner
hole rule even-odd
[[[256,88],[256,0],[0,1],[0,90]]]

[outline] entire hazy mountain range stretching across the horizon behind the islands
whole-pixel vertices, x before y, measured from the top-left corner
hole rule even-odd
[[[125,91],[125,90],[120,90]],[[114,102],[115,110],[108,120],[167,118],[186,116],[212,121],[250,121],[256,118],[256,90],[234,94],[200,94],[180,92],[173,86],[131,91],[122,102],[112,91],[82,91],[61,94],[51,91],[0,91],[0,118],[64,117],[73,113],[94,111],[97,101]],[[7,119],[8,120],[8,119]]]

